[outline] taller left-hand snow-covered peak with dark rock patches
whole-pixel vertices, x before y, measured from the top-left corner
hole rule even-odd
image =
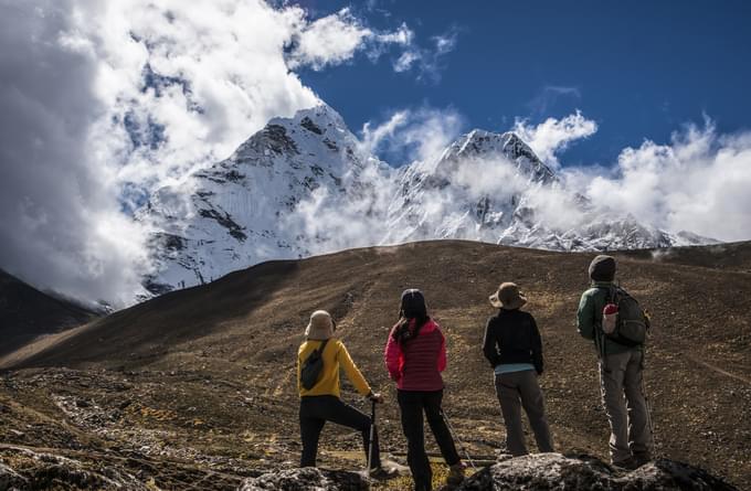
[[[307,255],[308,237],[285,226],[317,189],[332,195],[363,188],[358,175],[380,162],[361,158],[359,141],[328,106],[272,119],[226,160],[195,173],[189,190],[162,188],[139,220],[151,221],[160,271],[155,293],[211,281],[271,259]]]

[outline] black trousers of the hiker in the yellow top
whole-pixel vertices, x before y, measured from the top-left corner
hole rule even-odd
[[[362,446],[366,459],[370,447],[370,416],[366,416],[350,405],[332,395],[306,396],[300,399],[300,436],[303,438],[303,456],[300,467],[316,467],[318,438],[326,421],[336,423],[362,434]],[[367,460],[366,460],[367,461]],[[378,431],[373,434],[373,459],[371,467],[381,467],[378,448]]]

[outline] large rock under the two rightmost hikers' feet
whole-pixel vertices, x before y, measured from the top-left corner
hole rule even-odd
[[[466,479],[462,491],[737,491],[707,471],[659,459],[633,471],[589,457],[537,453],[500,461]]]

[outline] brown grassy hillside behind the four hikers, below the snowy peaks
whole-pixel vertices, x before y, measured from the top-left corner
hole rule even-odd
[[[653,313],[646,382],[658,453],[748,488],[751,244],[734,244],[731,253],[708,247],[616,257],[622,285]],[[604,456],[607,429],[596,359],[574,325],[592,257],[446,241],[233,273],[7,357],[4,363],[17,369],[0,385],[8,420],[25,424],[33,410],[50,418],[45,435],[67,436],[62,444],[45,440],[41,431],[14,437],[7,429],[12,425],[3,425],[0,441],[68,448],[85,438],[89,450],[81,458],[92,461],[105,449],[115,447],[117,455],[127,449],[140,461],[158,461],[144,472],[167,488],[208,476],[211,468],[225,474],[215,487],[223,489],[240,469],[294,462],[299,451],[295,355],[308,316],[322,308],[339,322],[338,333],[366,376],[385,392],[384,447],[399,455],[404,441],[382,350],[401,291],[415,287],[425,292],[447,337],[445,408],[473,453],[493,455],[503,446],[504,430],[479,344],[494,312],[487,297],[500,281],[512,280],[527,293],[527,309],[541,328],[547,361],[541,381],[559,448]],[[351,391],[346,398],[364,407]],[[70,425],[62,427],[61,416]],[[325,434],[322,463],[360,465],[353,435],[334,428]],[[129,469],[142,470],[139,466]]]

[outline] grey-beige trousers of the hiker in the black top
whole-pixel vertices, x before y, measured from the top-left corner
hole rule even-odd
[[[544,399],[535,371],[525,370],[496,375],[496,394],[500,403],[500,412],[504,414],[504,423],[506,423],[508,452],[512,456],[529,453],[521,426],[521,407],[525,408],[529,426],[535,433],[537,448],[543,452],[553,451],[553,441],[544,415]]]

